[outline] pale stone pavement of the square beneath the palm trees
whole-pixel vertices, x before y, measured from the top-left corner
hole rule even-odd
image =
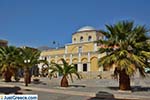
[[[16,94],[38,94],[39,100],[111,100],[109,95],[118,99],[138,99],[150,100],[150,78],[134,79],[131,81],[133,92],[119,92],[117,80],[91,79],[75,80],[70,83],[70,87],[59,87],[60,79],[40,78],[39,83],[31,83],[28,87],[24,86],[23,81],[5,83],[0,81],[1,87],[19,87]],[[104,99],[105,92],[107,99]],[[8,93],[9,94],[9,93]],[[94,97],[100,97],[94,98]],[[113,100],[113,99],[112,99]]]

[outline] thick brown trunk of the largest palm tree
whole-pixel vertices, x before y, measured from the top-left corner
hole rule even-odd
[[[131,90],[130,77],[126,74],[125,70],[119,73],[119,89],[120,90]]]

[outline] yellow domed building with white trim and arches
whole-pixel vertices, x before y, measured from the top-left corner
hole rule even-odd
[[[94,41],[103,39],[103,35],[91,26],[85,26],[72,34],[72,43],[66,44],[64,48],[42,51],[41,59],[49,62],[61,63],[64,58],[68,63],[74,63],[78,72],[95,74],[102,68],[98,67],[100,55],[98,45]],[[92,75],[93,76],[93,75]]]

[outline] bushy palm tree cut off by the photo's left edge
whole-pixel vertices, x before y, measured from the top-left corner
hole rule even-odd
[[[6,82],[11,81],[15,73],[18,49],[14,46],[0,47],[0,69]]]

